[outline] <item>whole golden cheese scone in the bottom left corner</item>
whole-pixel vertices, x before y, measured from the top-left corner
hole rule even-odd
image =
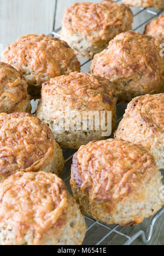
[[[81,245],[85,230],[55,174],[17,172],[0,184],[0,245]]]

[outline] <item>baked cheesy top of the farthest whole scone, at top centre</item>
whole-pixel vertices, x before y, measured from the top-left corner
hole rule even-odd
[[[124,19],[130,24],[133,22],[132,11],[124,4],[113,1],[75,3],[66,9],[63,25],[72,33],[98,41],[108,40],[111,27],[121,27]]]

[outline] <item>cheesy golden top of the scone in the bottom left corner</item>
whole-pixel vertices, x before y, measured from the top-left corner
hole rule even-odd
[[[55,174],[17,172],[0,184],[1,228],[13,231],[15,245],[44,243],[65,225],[68,199]]]

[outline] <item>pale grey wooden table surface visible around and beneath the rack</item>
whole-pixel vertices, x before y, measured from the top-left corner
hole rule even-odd
[[[56,28],[61,26],[61,19],[65,8],[75,2],[78,1],[58,0],[55,24]],[[91,0],[91,2],[96,3],[100,2],[100,0]],[[25,34],[49,34],[54,27],[55,4],[55,0],[0,0],[0,52],[5,46],[7,46],[7,44],[14,42],[18,37],[24,36]],[[134,14],[138,12],[137,8],[132,8],[132,10]],[[133,28],[136,28],[139,24],[143,24],[146,18],[147,20],[154,18],[151,11],[150,13],[138,15],[137,18],[134,18]],[[144,25],[139,27],[137,30],[139,32],[143,32]],[[89,66],[85,67],[85,71],[87,71],[87,69],[89,71]],[[65,154],[68,156],[68,151],[66,151]],[[70,172],[70,166],[71,160],[67,162],[64,173]],[[67,183],[68,182],[69,181],[67,181]],[[159,220],[157,220],[154,228],[154,235],[149,245],[164,245],[163,218],[164,214],[159,218]],[[112,235],[109,235],[106,240],[102,242],[102,245],[122,245],[122,243],[127,240],[125,236],[120,235],[122,232],[127,236],[132,236],[139,230],[148,232],[150,220],[151,218],[133,228],[123,228],[119,226],[119,228],[116,229],[118,232],[114,232]],[[91,224],[91,221],[87,222],[88,226]],[[103,229],[99,225],[94,225],[86,234],[85,244],[96,244],[104,235],[107,235],[108,232],[109,230]],[[143,242],[140,238],[137,238],[132,245],[143,245]]]

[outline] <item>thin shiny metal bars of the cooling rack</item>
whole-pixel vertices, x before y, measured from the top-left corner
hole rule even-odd
[[[93,2],[93,1],[92,1]],[[123,1],[121,0],[115,0],[115,2],[119,2],[122,3]],[[55,36],[55,37],[59,37],[60,36],[60,30],[61,27],[58,27],[55,29],[55,22],[56,22],[56,14],[57,14],[57,5],[58,5],[58,1],[56,0],[55,2],[55,13],[54,13],[54,26],[53,26],[53,30],[50,33],[51,36]],[[133,10],[133,8],[132,8]],[[134,19],[137,18],[139,15],[144,15],[145,13],[149,13],[151,16],[144,20],[144,22],[141,22],[139,25],[137,25],[136,27],[133,28],[133,31],[138,31],[140,28],[142,28],[145,24],[147,24],[150,20],[155,19],[157,16],[159,16],[162,11],[157,11],[154,9],[144,9],[144,8],[136,8],[134,11]],[[91,62],[91,60],[86,60],[83,58],[83,61],[81,61],[81,67],[84,67],[86,65],[89,65],[89,63]],[[86,66],[86,69],[88,69],[89,66]],[[119,108],[123,108],[123,112],[124,113],[124,109],[125,106],[122,107],[122,104],[118,103],[117,106]],[[119,117],[119,119],[117,120],[117,124],[119,124],[120,120],[122,119],[122,115],[121,117]],[[69,162],[72,159],[73,155],[71,153],[71,155],[66,159],[66,163]],[[66,182],[67,186],[69,187],[69,179],[70,179],[70,174],[69,176],[67,176],[64,181]],[[70,190],[70,187],[68,188]],[[127,238],[126,242],[124,243],[124,245],[131,245],[132,242],[134,242],[139,236],[141,236],[142,241],[144,244],[148,244],[151,240],[151,238],[153,237],[153,229],[154,229],[154,225],[156,223],[156,221],[159,219],[159,217],[164,213],[164,207],[153,217],[153,219],[150,222],[149,225],[149,231],[148,231],[148,235],[146,236],[145,232],[143,230],[139,230],[138,232],[136,232],[136,234],[134,234],[133,236],[128,236],[126,234],[124,234],[123,232],[118,231],[119,225],[115,225],[113,227],[113,225],[106,225],[100,222],[95,221],[94,219],[88,217],[85,213],[85,219],[86,219],[86,223],[90,222],[91,224],[88,226],[87,228],[87,232],[86,234],[92,229],[94,228],[96,225],[98,225],[98,228],[104,228],[106,230],[106,234],[103,235],[102,238],[99,239],[99,241],[96,243],[96,245],[102,245],[103,242],[106,240],[106,238],[108,238],[111,234],[116,234],[116,235],[120,235],[120,236],[124,236],[125,238]],[[84,244],[85,240],[84,240]]]

